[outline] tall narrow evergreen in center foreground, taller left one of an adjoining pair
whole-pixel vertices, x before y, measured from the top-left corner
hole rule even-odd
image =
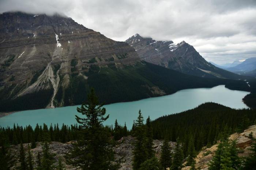
[[[139,116],[138,119],[136,120],[136,129],[135,129],[135,137],[136,137],[136,142],[135,142],[135,148],[133,150],[133,169],[138,170],[141,166],[141,164],[147,160],[147,149],[145,147],[146,143],[146,136],[145,136],[145,128],[143,124],[143,116],[141,111],[139,110]]]

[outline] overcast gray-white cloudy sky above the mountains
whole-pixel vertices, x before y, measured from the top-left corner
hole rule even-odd
[[[185,40],[218,64],[256,57],[256,0],[0,0],[0,12],[64,13],[124,41]]]

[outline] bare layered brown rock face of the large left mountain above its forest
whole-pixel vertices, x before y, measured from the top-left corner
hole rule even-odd
[[[65,16],[0,15],[0,94],[5,100],[45,91],[47,107],[65,105],[64,91],[74,75],[87,80],[90,70],[118,69],[139,61],[127,43],[106,38]]]

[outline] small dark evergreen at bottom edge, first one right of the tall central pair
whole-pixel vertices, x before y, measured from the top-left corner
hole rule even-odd
[[[172,153],[167,139],[163,141],[163,145],[161,147],[160,163],[164,170],[166,170],[167,167],[172,166]]]

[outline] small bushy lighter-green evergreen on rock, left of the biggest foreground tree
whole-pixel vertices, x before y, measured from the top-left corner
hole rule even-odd
[[[43,146],[43,157],[41,162],[41,167],[43,170],[52,170],[54,163],[54,155],[49,151],[49,145],[47,142]]]

